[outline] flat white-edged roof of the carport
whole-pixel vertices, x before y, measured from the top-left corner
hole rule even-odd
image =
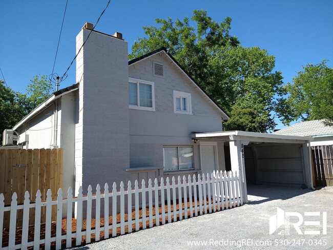
[[[312,137],[306,136],[291,136],[291,135],[277,135],[267,133],[256,133],[246,131],[220,131],[191,134],[194,139],[223,139],[225,141],[242,140],[249,142],[275,142],[275,143],[307,143],[314,140]]]

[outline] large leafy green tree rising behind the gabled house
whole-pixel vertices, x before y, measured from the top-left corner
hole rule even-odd
[[[275,57],[258,47],[244,48],[229,34],[230,17],[218,23],[204,10],[193,11],[192,21],[185,17],[156,19],[159,27],[143,27],[147,37],[138,38],[130,58],[165,47],[227,113],[225,128],[265,132],[272,128],[270,113],[277,110],[284,94],[281,72],[273,72]],[[276,99],[278,97],[278,99]],[[234,112],[233,110],[236,109]],[[250,112],[255,121],[246,122],[241,114]]]

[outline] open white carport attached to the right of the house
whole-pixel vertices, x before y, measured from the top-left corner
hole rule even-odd
[[[313,140],[311,137],[244,131],[193,133],[191,136],[199,144],[222,141],[230,148],[231,170],[241,177],[245,202],[247,182],[313,188],[308,146]]]

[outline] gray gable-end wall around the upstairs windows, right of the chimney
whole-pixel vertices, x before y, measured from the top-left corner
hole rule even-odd
[[[163,77],[153,75],[153,61],[164,65]],[[195,170],[200,170],[199,146],[190,133],[222,131],[221,113],[163,52],[131,65],[129,76],[155,87],[155,111],[130,109],[131,168],[163,166],[163,145],[193,145]],[[174,90],[191,94],[192,115],[174,113]],[[224,158],[219,162],[223,169]]]

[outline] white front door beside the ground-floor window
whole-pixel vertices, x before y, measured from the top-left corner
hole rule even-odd
[[[218,169],[217,143],[200,142],[200,156],[201,171],[203,174],[212,173]]]

